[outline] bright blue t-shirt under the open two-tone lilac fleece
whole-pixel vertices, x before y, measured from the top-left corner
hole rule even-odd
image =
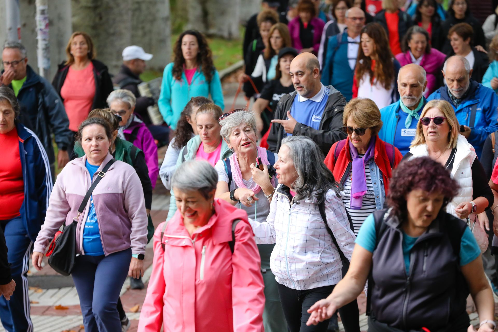
[[[87,166],[90,177],[93,175],[100,166],[91,165],[88,160],[85,164]],[[90,197],[90,210],[88,211],[87,221],[83,227],[83,250],[85,255],[100,256],[104,254],[102,241],[100,240],[99,223],[97,222],[97,213],[95,212],[95,205],[93,204],[93,195]]]

